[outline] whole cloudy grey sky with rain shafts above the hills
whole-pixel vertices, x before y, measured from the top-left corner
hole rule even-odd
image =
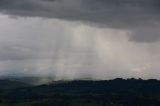
[[[0,0],[0,75],[160,79],[159,0]]]

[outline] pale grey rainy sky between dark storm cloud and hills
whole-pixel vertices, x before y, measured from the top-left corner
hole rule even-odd
[[[0,23],[0,75],[40,74],[56,79],[159,78],[152,73],[160,67],[160,42],[141,45],[128,42],[125,30],[75,25],[56,19],[12,19],[0,15]],[[158,29],[154,30],[158,33]],[[138,32],[132,34],[138,36],[141,34]]]

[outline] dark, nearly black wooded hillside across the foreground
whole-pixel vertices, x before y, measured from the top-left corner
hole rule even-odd
[[[0,106],[3,105],[160,106],[160,81],[121,78],[53,81],[46,85],[1,89]]]

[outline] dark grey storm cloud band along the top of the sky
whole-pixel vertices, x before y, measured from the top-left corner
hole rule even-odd
[[[160,39],[159,32],[154,32],[155,28],[160,28],[159,0],[0,0],[0,11],[15,16],[83,21],[98,27],[130,30],[132,41]]]

